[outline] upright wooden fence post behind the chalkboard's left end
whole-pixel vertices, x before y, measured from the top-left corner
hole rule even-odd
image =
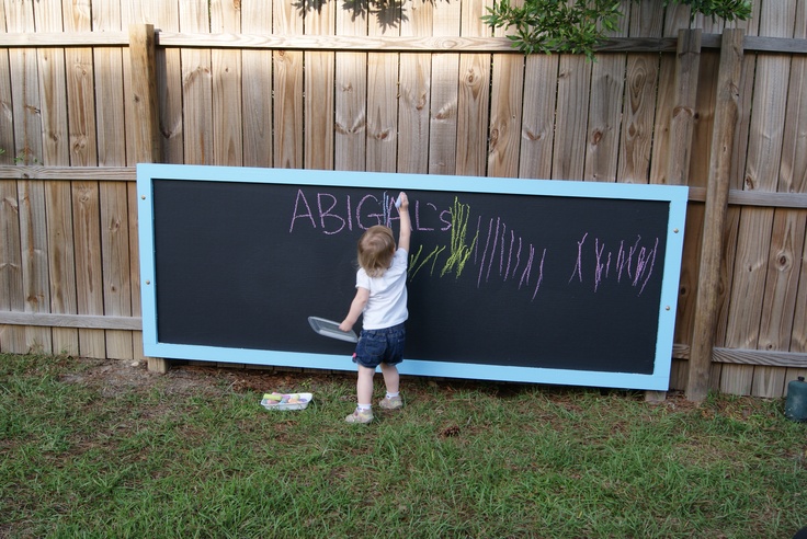
[[[151,24],[129,26],[129,57],[132,61],[132,110],[136,122],[127,122],[133,141],[134,161],[155,163],[162,161],[160,151],[160,119],[157,95],[157,61],[155,27]],[[144,284],[140,283],[140,286]],[[149,357],[148,369],[167,372],[168,362]]]

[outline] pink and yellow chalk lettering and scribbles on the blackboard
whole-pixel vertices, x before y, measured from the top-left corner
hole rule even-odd
[[[410,202],[412,229],[430,234],[436,241],[431,251],[424,252],[424,243],[410,253],[409,278],[420,273],[459,278],[467,273],[468,264],[474,272],[477,288],[498,279],[512,283],[519,290],[527,290],[535,299],[544,283],[547,264],[546,246],[536,246],[526,241],[501,217],[476,216],[476,229],[469,229],[471,208],[455,196],[450,207],[437,207],[432,202]],[[390,226],[397,209],[395,198],[386,193],[380,196],[366,194],[361,197],[341,197],[327,192],[297,190],[292,209],[289,233],[318,231],[322,234],[363,232],[374,225]],[[645,290],[653,275],[659,249],[659,239],[645,241],[640,234],[606,244],[594,233],[584,232],[575,245],[555,248],[553,255],[568,264],[568,282],[589,284],[596,293],[604,280],[636,288],[637,296]]]

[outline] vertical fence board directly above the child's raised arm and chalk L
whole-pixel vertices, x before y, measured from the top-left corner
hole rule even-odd
[[[433,4],[407,0],[401,11],[402,36],[429,36],[433,24]],[[401,173],[429,172],[429,111],[431,108],[431,69],[429,54],[401,53],[398,87],[398,159]]]

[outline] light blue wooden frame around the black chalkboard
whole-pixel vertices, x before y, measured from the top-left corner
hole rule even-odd
[[[659,305],[656,357],[651,375],[602,372],[533,367],[507,367],[462,363],[404,362],[402,375],[465,379],[523,381],[567,386],[661,390],[668,389],[672,362],[673,330],[683,250],[689,188],[685,186],[602,182],[516,180],[500,177],[443,176],[378,172],[340,172],[288,169],[152,164],[137,165],[140,284],[143,294],[143,347],[151,357],[217,363],[354,370],[349,356],[226,348],[161,343],[157,335],[157,283],[155,278],[154,180],[195,180],[239,183],[329,185],[389,190],[454,191],[584,198],[623,198],[670,203],[667,251]]]

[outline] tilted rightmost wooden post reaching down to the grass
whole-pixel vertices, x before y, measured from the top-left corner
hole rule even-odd
[[[731,149],[739,117],[743,37],[745,32],[741,28],[725,30],[720,42],[717,102],[709,151],[709,177],[706,186],[706,208],[701,241],[701,266],[686,383],[686,399],[696,402],[706,398],[709,387],[709,367],[718,309],[723,233],[728,207]]]

